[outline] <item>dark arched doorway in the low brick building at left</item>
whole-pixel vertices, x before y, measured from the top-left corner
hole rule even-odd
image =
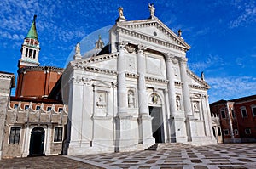
[[[34,127],[31,132],[29,156],[44,155],[44,128]]]

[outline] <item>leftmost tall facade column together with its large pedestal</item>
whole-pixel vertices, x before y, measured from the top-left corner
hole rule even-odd
[[[125,42],[118,42],[118,113],[115,128],[115,151],[131,151],[137,149],[137,118],[128,115],[128,99],[126,91],[126,58]]]

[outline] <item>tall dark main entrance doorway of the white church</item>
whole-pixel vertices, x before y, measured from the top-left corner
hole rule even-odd
[[[161,107],[149,106],[149,115],[153,117],[152,120],[152,132],[155,139],[155,143],[164,143],[164,123]]]

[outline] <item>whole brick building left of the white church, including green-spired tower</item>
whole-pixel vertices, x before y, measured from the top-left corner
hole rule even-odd
[[[0,72],[0,158],[61,154],[67,106],[54,87],[63,69],[39,65],[36,16],[20,51],[15,97],[15,75]]]

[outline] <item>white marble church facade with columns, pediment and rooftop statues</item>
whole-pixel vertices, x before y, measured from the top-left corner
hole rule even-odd
[[[188,69],[189,45],[150,14],[135,21],[122,14],[109,31],[109,54],[67,66],[68,155],[146,149],[155,142],[216,144],[209,86]]]

